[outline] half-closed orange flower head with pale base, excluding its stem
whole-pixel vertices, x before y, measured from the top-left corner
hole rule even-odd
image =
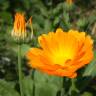
[[[16,13],[15,15],[15,21],[14,21],[14,27],[12,30],[12,37],[14,37],[17,40],[24,40],[27,37],[27,32],[26,32],[26,26],[27,24],[32,23],[32,17],[28,20],[28,22],[25,21],[24,14],[22,13]]]

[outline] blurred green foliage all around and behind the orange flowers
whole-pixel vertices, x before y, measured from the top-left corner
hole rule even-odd
[[[55,31],[57,27],[62,27],[65,31],[85,31],[92,35],[95,44],[96,0],[75,0],[73,5],[68,5],[64,0],[0,0],[0,96],[20,96],[18,52],[16,43],[11,38],[16,12],[23,12],[26,20],[32,16],[34,28],[33,39],[22,45],[25,96],[61,96],[62,90],[65,94],[62,96],[95,96],[96,59],[86,68],[80,69],[76,79],[63,79],[30,70],[24,56],[31,46],[39,46],[37,38],[40,34]],[[95,51],[94,54],[96,55]]]

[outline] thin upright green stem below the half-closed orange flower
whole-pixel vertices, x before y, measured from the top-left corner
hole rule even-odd
[[[19,85],[20,85],[20,94],[23,95],[22,87],[22,64],[21,64],[21,45],[18,44],[18,73],[19,73]]]

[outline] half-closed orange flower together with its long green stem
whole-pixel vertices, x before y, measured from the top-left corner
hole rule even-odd
[[[19,75],[19,85],[20,85],[20,94],[24,96],[23,91],[23,74],[22,74],[22,62],[21,62],[21,44],[25,43],[28,36],[33,36],[33,27],[32,27],[32,17],[28,22],[25,20],[25,16],[23,13],[16,13],[14,26],[11,32],[11,36],[14,38],[16,43],[18,44],[18,75]],[[27,24],[28,23],[28,24]],[[28,34],[27,26],[30,26],[31,34]],[[32,38],[31,38],[32,39]]]

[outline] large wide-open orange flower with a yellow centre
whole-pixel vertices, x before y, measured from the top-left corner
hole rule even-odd
[[[31,48],[28,64],[51,75],[74,78],[76,71],[93,59],[93,40],[85,32],[49,32],[38,37],[41,48]]]

